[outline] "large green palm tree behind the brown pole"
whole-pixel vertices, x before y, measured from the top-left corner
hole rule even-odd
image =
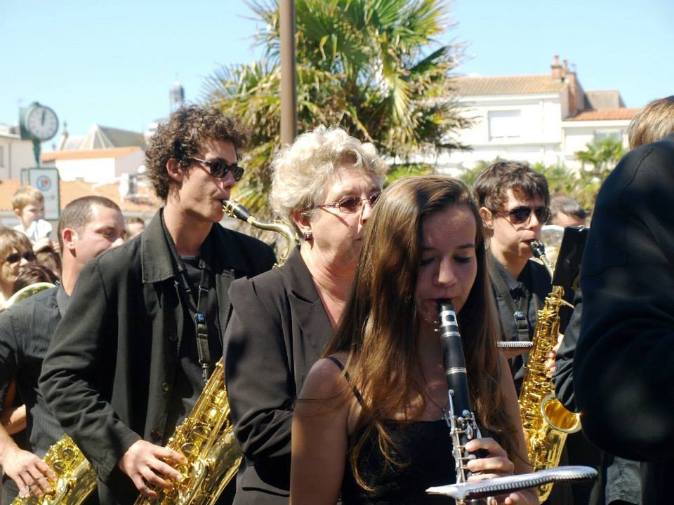
[[[204,98],[251,127],[237,198],[265,218],[279,145],[279,10],[272,0],[249,6],[267,26],[257,37],[265,57],[216,70]],[[449,27],[447,2],[296,0],[295,12],[300,133],[341,126],[403,166],[413,154],[458,147],[451,139],[468,123],[449,98],[459,48],[435,41]]]

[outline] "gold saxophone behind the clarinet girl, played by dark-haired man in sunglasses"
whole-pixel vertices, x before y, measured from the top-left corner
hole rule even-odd
[[[543,245],[532,243],[531,249],[551,271]],[[524,365],[524,381],[520,390],[520,415],[534,471],[559,466],[567,435],[581,429],[580,416],[569,412],[555,397],[555,386],[545,365],[548,354],[557,344],[560,308],[562,305],[569,305],[562,299],[563,296],[564,288],[553,286],[552,292],[546,297],[543,309],[538,311],[533,346]],[[541,503],[548,498],[552,489],[552,483],[538,487],[538,499]]]

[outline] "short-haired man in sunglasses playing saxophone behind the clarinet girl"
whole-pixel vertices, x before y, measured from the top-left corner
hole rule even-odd
[[[536,329],[537,313],[552,290],[546,267],[530,261],[534,254],[531,242],[541,238],[541,228],[550,219],[548,181],[541,173],[518,161],[499,161],[487,167],[475,179],[475,200],[480,207],[491,252],[491,287],[494,290],[501,320],[502,339],[530,341]],[[569,290],[570,291],[570,290]],[[572,292],[564,296],[568,302]],[[560,314],[563,332],[570,311]],[[510,358],[510,371],[520,393],[527,354]],[[581,439],[581,440],[579,440]],[[582,435],[567,438],[568,463],[594,464],[596,451]],[[571,445],[574,449],[571,450]],[[567,464],[567,447],[562,464]],[[572,494],[573,493],[573,494]],[[546,501],[550,505],[588,503],[590,486],[555,484]]]

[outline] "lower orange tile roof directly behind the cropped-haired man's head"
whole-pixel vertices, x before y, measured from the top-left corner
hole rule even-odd
[[[0,180],[0,211],[12,210],[12,196],[19,187],[20,181],[16,179]],[[148,194],[143,196],[143,203],[137,203],[128,199],[121,201],[119,198],[119,184],[94,184],[84,181],[60,181],[60,206],[63,209],[68,203],[80,196],[98,195],[110,198],[119,205],[122,212],[153,213],[159,208],[157,196]]]

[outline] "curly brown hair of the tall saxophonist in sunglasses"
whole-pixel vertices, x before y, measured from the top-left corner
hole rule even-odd
[[[186,171],[191,163],[187,158],[199,152],[205,139],[232,142],[238,151],[248,144],[250,132],[241,121],[225,116],[220,109],[190,105],[173,112],[168,123],[159,125],[145,152],[147,176],[159,198],[166,200],[169,195],[169,159],[178,160],[180,170]]]

